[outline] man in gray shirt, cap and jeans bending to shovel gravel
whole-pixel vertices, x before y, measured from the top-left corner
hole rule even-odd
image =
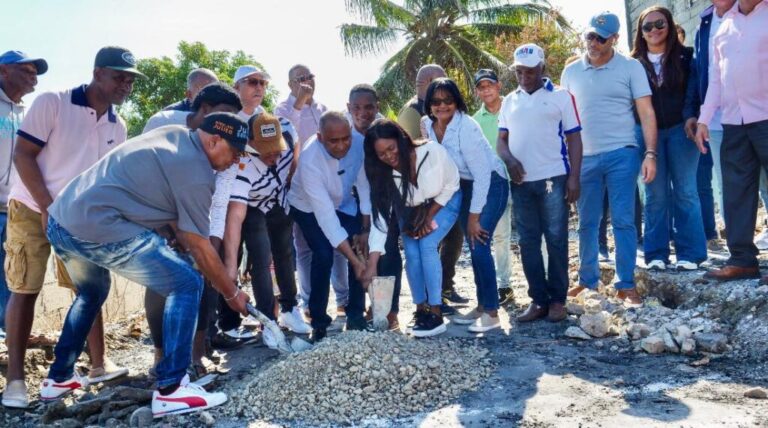
[[[109,293],[109,272],[166,297],[163,354],[157,366],[155,417],[187,413],[226,401],[189,383],[203,279],[192,261],[168,247],[153,229],[171,225],[184,249],[227,304],[246,313],[246,294],[227,277],[208,240],[215,187],[212,169],[238,161],[248,128],[231,113],[212,113],[191,131],[168,126],[121,145],[72,180],[49,208],[47,235],[77,286],[64,321],[55,360],[43,381],[41,400],[87,386],[74,372],[86,333]]]

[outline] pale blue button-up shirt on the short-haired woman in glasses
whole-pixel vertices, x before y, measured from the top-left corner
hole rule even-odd
[[[435,130],[432,128],[432,120],[425,116],[429,139],[438,141]],[[472,200],[469,204],[469,212],[480,214],[488,197],[488,188],[491,186],[491,174],[495,171],[500,176],[507,178],[507,169],[483,134],[482,128],[475,119],[460,111],[453,114],[453,119],[448,123],[442,141],[443,147],[456,163],[459,176],[464,180],[472,180]]]

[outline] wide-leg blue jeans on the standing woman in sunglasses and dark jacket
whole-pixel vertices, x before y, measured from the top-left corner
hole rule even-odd
[[[645,152],[639,126],[635,135],[641,152]],[[696,179],[699,150],[679,124],[659,129],[656,151],[656,178],[646,184],[645,192],[645,262],[661,260],[669,263],[669,241],[672,239],[669,220],[673,219],[677,260],[701,263],[707,259],[707,239]]]

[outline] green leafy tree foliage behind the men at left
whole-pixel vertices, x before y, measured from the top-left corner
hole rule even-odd
[[[209,50],[201,42],[179,42],[176,59],[142,58],[138,68],[146,79],[137,79],[128,101],[121,107],[120,113],[128,124],[128,135],[141,133],[150,116],[165,106],[184,98],[187,89],[187,74],[195,68],[207,68],[222,82],[233,84],[232,77],[237,67],[253,64],[264,67],[256,59],[243,51],[234,54],[226,50]],[[264,107],[272,110],[277,92],[270,88],[264,97]]]

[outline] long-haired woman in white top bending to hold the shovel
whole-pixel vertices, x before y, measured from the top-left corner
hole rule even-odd
[[[405,273],[416,304],[412,334],[427,337],[445,331],[440,311],[440,241],[459,215],[459,172],[436,142],[416,144],[397,123],[381,119],[365,135],[365,174],[371,186],[371,232],[364,283],[376,275],[384,254],[388,225],[400,224]]]

